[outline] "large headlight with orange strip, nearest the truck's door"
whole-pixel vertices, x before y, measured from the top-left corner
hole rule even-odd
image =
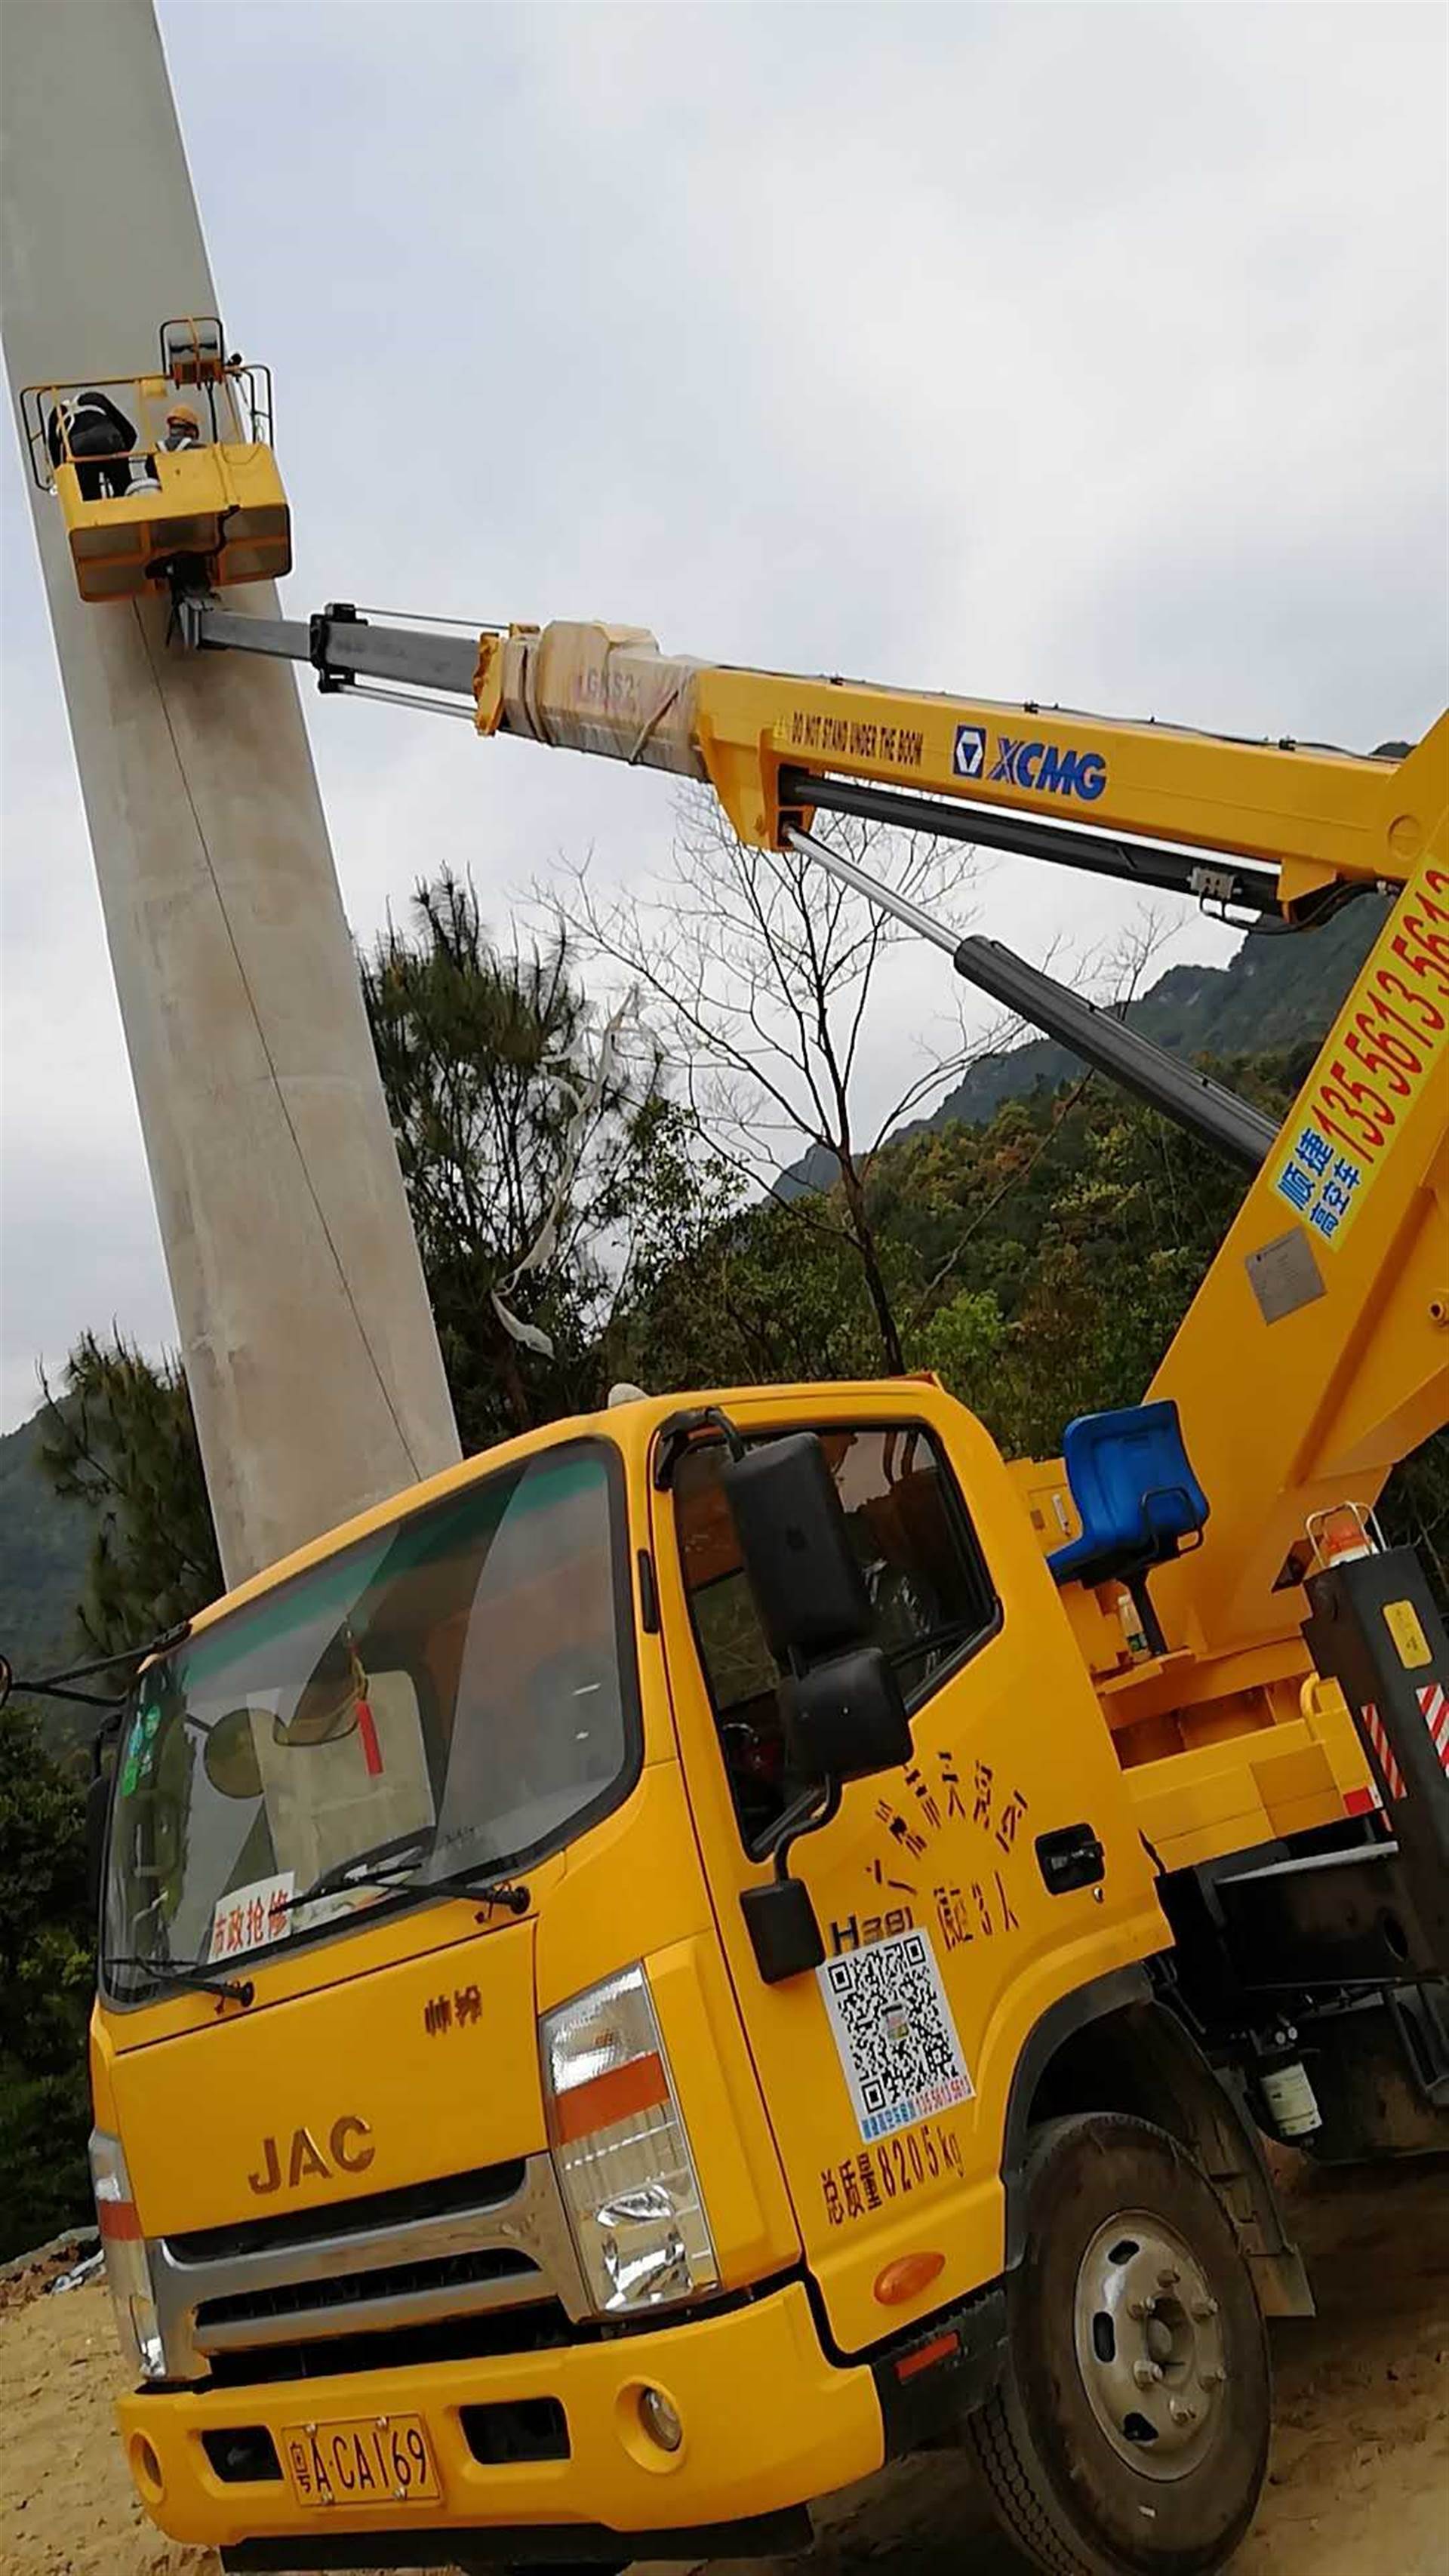
[[[710,2221],[643,1968],[540,2022],[548,2138],[600,2316],[718,2285]]]

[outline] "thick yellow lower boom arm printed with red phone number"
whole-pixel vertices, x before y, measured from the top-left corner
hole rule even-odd
[[[1256,1283],[1284,1247],[1302,1280],[1274,1314]],[[1274,1584],[1307,1515],[1372,1507],[1449,1417],[1449,866],[1400,894],[1150,1394],[1217,1497],[1158,1577],[1166,1615],[1212,1649],[1295,1625]]]

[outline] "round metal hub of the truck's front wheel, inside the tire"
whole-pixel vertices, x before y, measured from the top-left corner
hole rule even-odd
[[[1096,2228],[1076,2275],[1076,2365],[1112,2450],[1145,2478],[1186,2478],[1207,2450],[1228,2360],[1217,2298],[1163,2218]]]

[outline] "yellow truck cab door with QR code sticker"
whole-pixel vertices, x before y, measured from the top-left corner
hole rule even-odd
[[[981,1425],[929,1383],[739,1399],[731,1419],[749,1440],[821,1435],[911,1710],[911,1765],[857,1780],[795,1847],[824,1968],[764,1984],[741,1893],[772,1875],[762,1842],[785,1803],[777,1672],[723,1445],[677,1455],[656,1569],[695,1826],[806,2257],[860,2352],[999,2275],[1022,2048],[1060,1996],[1168,1929],[1091,1677]],[[1042,1839],[1073,1832],[1076,1883],[1048,1883]],[[888,2267],[937,2254],[896,2306]]]

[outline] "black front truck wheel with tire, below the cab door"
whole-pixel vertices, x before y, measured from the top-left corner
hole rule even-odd
[[[1210,2576],[1269,2465],[1269,2344],[1207,2174],[1148,2120],[1040,2130],[1006,2370],[970,2439],[1050,2576]]]

